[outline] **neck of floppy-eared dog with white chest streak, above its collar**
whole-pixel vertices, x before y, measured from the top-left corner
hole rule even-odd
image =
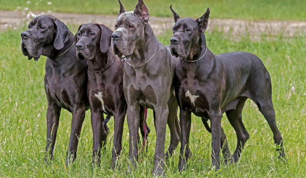
[[[106,53],[102,53],[98,48],[94,58],[88,60],[88,68],[95,73],[102,73],[114,63],[116,58],[118,57],[114,55],[111,47]]]

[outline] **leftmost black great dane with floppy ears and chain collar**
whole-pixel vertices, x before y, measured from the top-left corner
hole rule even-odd
[[[76,58],[74,35],[51,15],[35,17],[21,33],[21,50],[28,60],[47,56],[45,91],[47,95],[47,145],[45,162],[53,159],[61,109],[72,113],[69,150],[66,163],[74,161],[79,136],[90,105],[86,95],[87,61]],[[70,159],[71,158],[71,159]]]

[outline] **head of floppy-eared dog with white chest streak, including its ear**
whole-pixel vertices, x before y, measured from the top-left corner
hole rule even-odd
[[[97,50],[106,53],[111,46],[113,31],[102,24],[90,22],[80,25],[75,35],[78,60],[92,60]]]

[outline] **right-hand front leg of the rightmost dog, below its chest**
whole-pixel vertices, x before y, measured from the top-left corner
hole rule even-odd
[[[209,119],[211,121],[211,158],[212,158],[212,166],[215,166],[215,170],[217,171],[220,168],[220,151],[221,151],[221,111],[212,111],[209,114]]]

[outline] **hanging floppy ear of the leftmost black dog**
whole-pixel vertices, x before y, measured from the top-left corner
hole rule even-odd
[[[69,37],[69,29],[68,27],[61,21],[56,19],[52,19],[54,24],[54,31],[56,33],[54,39],[54,48],[59,50],[62,49],[65,43],[68,41]]]

